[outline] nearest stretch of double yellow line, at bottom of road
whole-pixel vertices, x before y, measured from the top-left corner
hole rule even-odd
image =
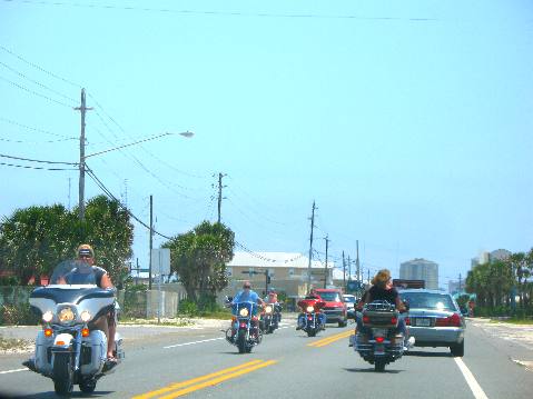
[[[197,391],[199,389],[216,386],[217,383],[224,382],[231,378],[237,378],[239,376],[261,369],[264,367],[272,366],[276,362],[276,360],[251,360],[239,366],[211,372],[207,376],[193,378],[182,382],[171,383],[165,388],[136,396],[134,397],[134,399],[149,399],[156,397],[158,397],[159,399],[177,398]]]

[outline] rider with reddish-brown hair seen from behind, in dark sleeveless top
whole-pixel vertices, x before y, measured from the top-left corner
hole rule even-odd
[[[365,331],[365,328],[363,327],[363,321],[361,319],[361,310],[363,310],[363,306],[365,303],[369,303],[375,300],[386,300],[387,302],[394,305],[401,313],[407,310],[404,302],[402,302],[402,300],[399,299],[398,291],[393,286],[393,282],[391,280],[391,271],[387,269],[382,269],[376,273],[376,276],[374,276],[374,278],[372,279],[372,287],[366,290],[359,303],[357,303],[357,310],[359,312],[357,312],[356,322],[357,330],[359,332]],[[402,332],[405,338],[408,337],[408,330],[405,326],[405,320],[403,317],[398,318],[397,331]],[[408,343],[414,343],[414,339],[409,338]]]

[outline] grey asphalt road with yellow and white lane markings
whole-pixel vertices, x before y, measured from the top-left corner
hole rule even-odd
[[[93,396],[507,399],[533,392],[533,367],[524,366],[533,365],[533,345],[500,338],[478,323],[468,322],[464,358],[444,348],[415,348],[383,373],[348,348],[352,329],[332,325],[307,338],[289,320],[248,355],[238,355],[217,328],[136,330],[137,337],[126,339],[127,359],[98,382]],[[26,357],[0,358],[0,392],[56,398],[51,380],[21,370]],[[72,397],[83,395],[76,387]]]

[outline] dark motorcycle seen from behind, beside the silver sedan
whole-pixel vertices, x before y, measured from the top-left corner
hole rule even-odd
[[[363,307],[361,320],[363,328],[351,337],[351,346],[375,371],[384,371],[404,355],[405,337],[397,332],[399,312],[394,305],[376,300]]]

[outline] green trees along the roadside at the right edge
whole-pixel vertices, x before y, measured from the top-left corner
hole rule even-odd
[[[473,267],[466,292],[476,295],[476,313],[533,315],[533,249]]]

